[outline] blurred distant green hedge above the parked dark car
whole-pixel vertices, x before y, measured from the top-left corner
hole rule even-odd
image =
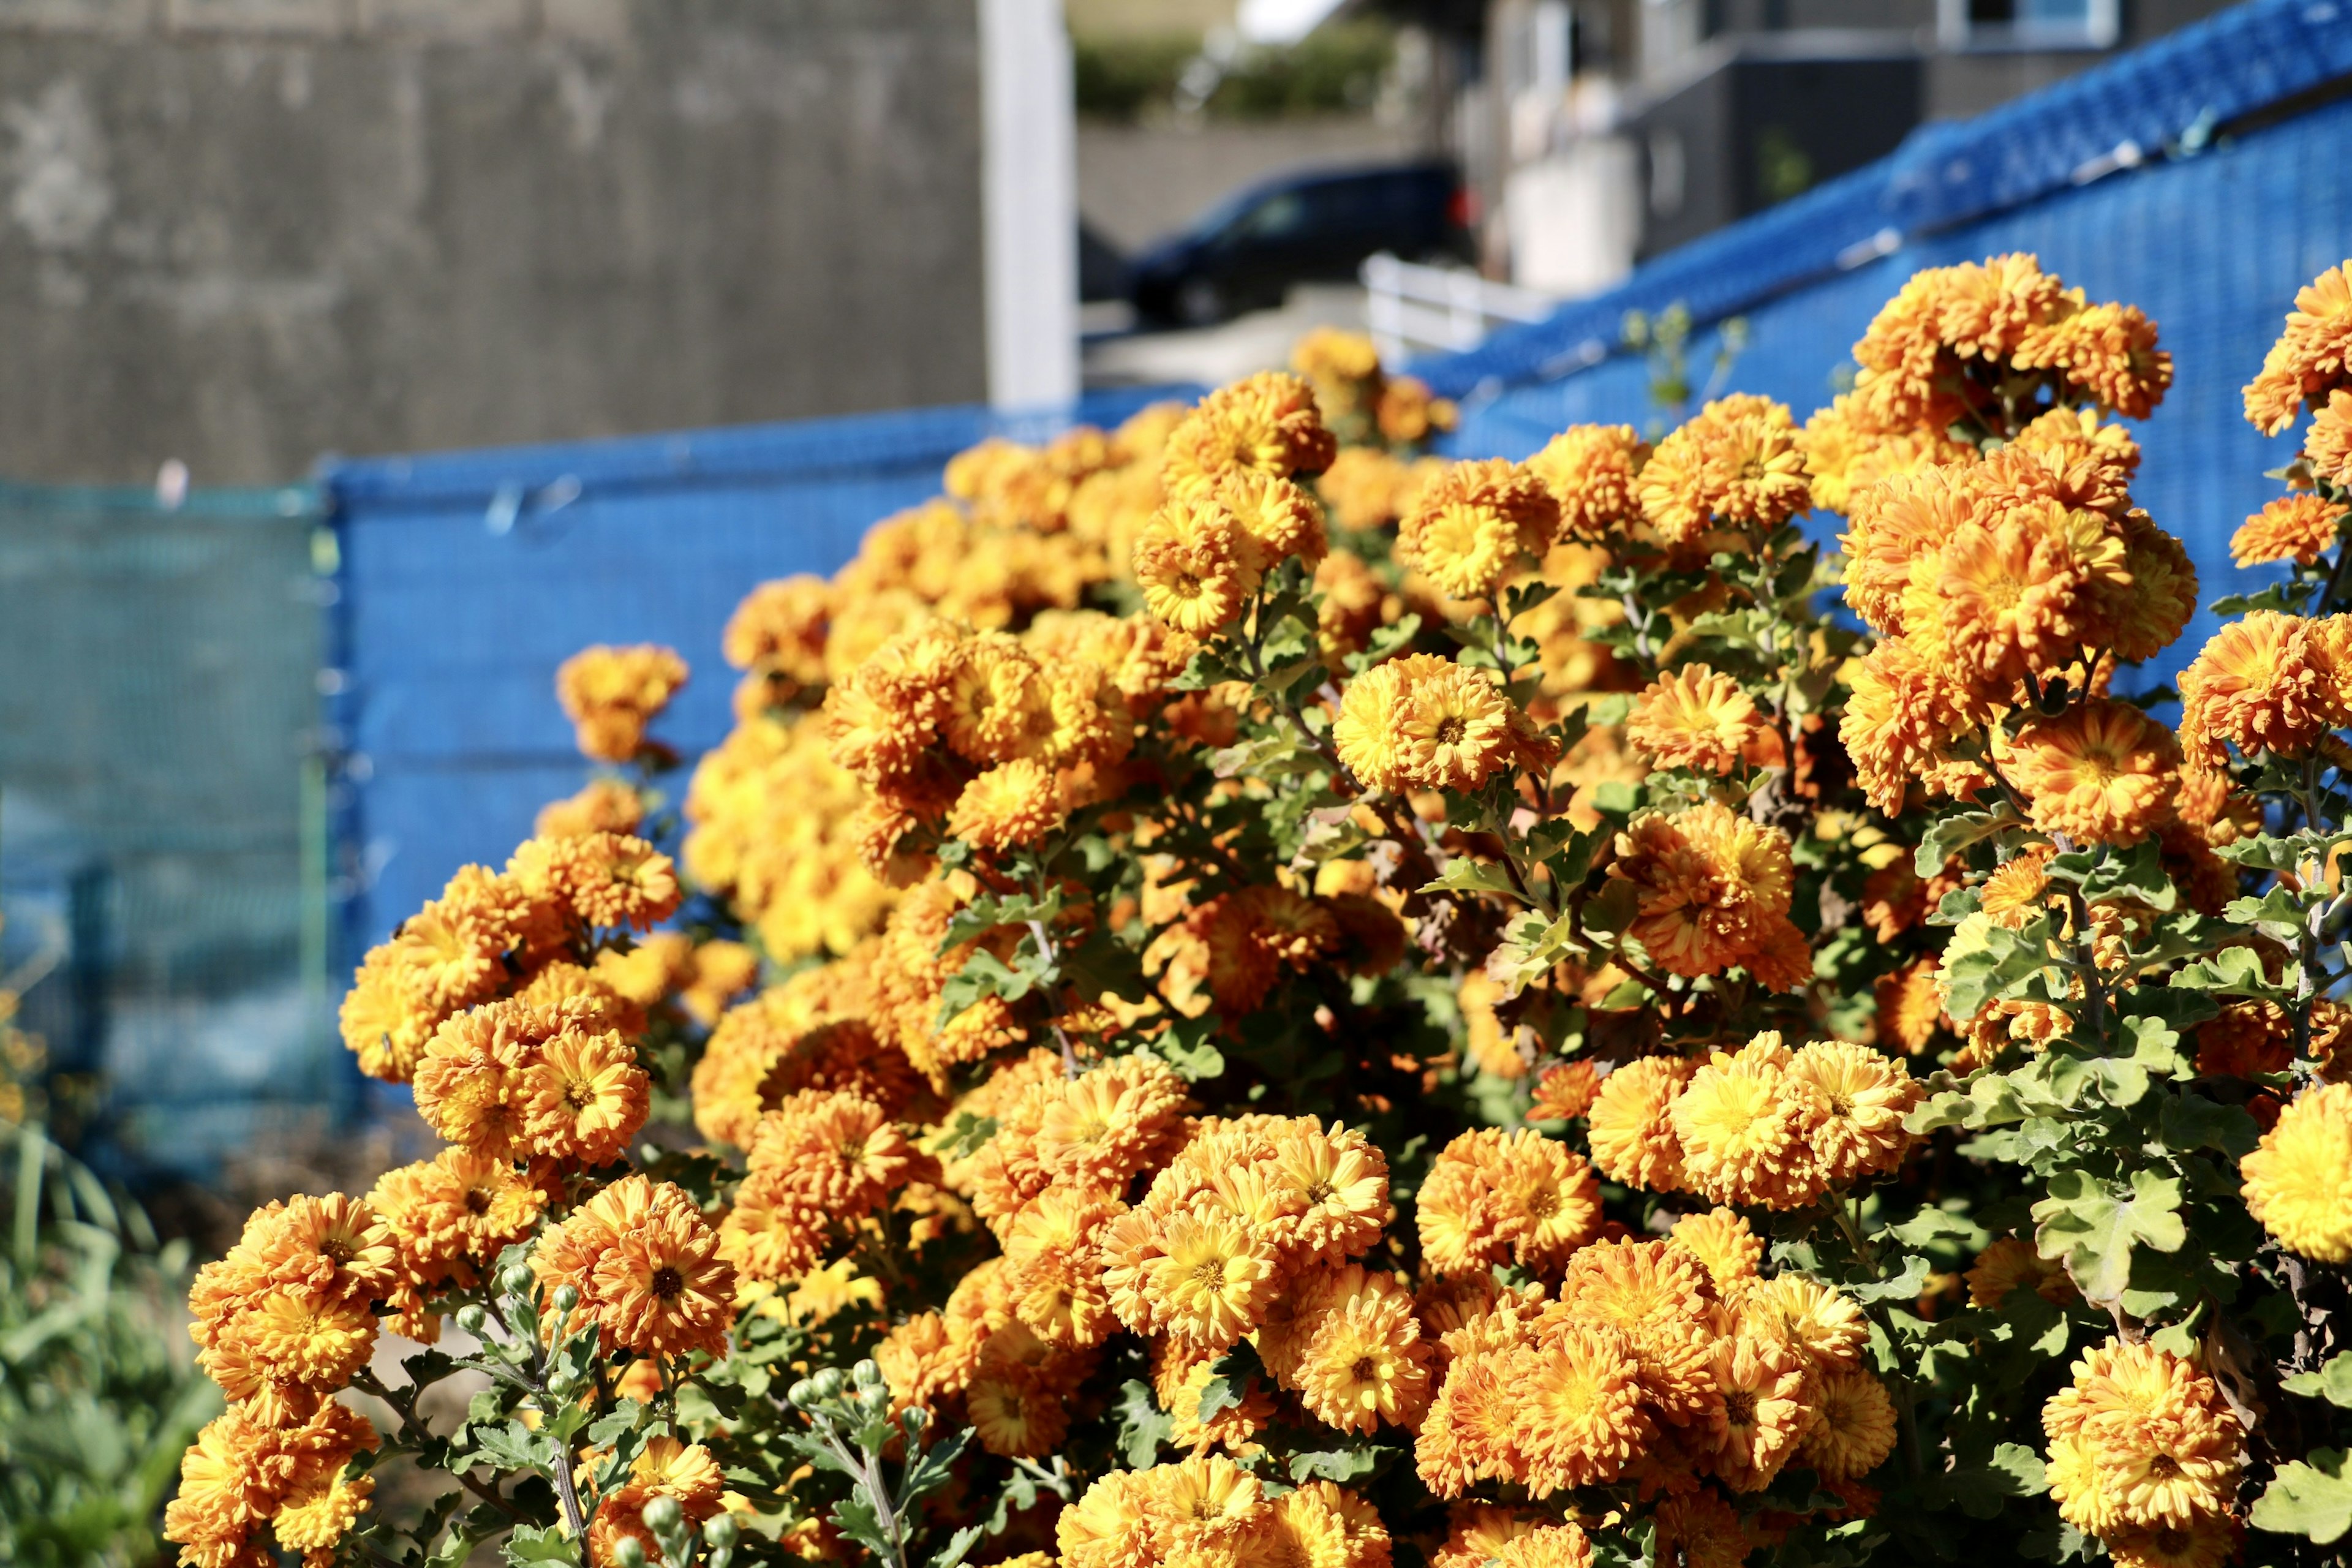
[[[1242,47],[1218,61],[1192,38],[1080,38],[1077,113],[1134,122],[1202,113],[1211,120],[1364,113],[1397,61],[1378,21],[1327,26],[1296,45]]]

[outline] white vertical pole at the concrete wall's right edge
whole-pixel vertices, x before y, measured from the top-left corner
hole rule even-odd
[[[1077,397],[1077,103],[1061,0],[978,0],[988,402]]]

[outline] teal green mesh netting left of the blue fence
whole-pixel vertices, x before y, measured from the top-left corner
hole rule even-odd
[[[343,1084],[320,541],[306,489],[0,484],[0,983],[38,976],[61,1105],[103,1081],[101,1161],[214,1173],[325,1131]]]

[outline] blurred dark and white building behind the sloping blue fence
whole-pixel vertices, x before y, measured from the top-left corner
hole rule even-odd
[[[1458,136],[1498,273],[1635,261],[2220,9],[2213,0],[1494,0]]]

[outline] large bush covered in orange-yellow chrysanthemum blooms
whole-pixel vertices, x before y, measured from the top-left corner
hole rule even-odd
[[[343,1006],[449,1147],[198,1279],[183,1561],[2333,1561],[2347,343],[2178,726],[2171,362],[2030,256],[1802,425],[1442,463],[1319,336],[983,444],[682,820],[590,649]]]

